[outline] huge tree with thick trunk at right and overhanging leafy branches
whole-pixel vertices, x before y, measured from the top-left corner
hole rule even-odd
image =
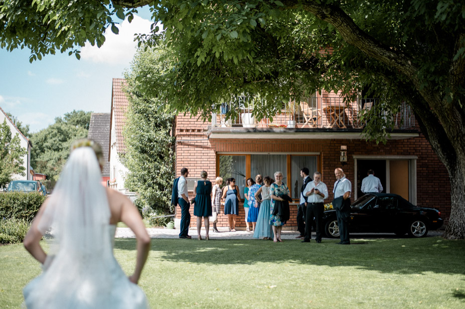
[[[113,16],[149,4],[153,31],[140,47],[166,51],[161,75],[141,71],[138,89],[176,111],[209,117],[222,101],[259,95],[257,118],[289,96],[361,89],[386,113],[412,108],[446,167],[451,215],[446,237],[465,239],[465,7],[451,0],[114,0],[0,2],[0,46],[30,47],[32,60],[55,50],[103,43]],[[128,8],[123,11],[122,8]],[[24,14],[22,14],[24,13]],[[157,23],[163,25],[158,32]],[[117,31],[116,31],[117,32]],[[379,109],[378,109],[379,110]],[[383,140],[391,123],[370,121]],[[389,117],[385,117],[389,119]]]

